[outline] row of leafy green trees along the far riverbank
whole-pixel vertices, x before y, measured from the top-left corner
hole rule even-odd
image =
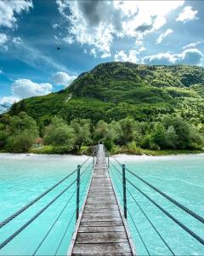
[[[137,153],[139,148],[201,149],[204,144],[203,126],[192,125],[179,116],[166,115],[156,122],[127,117],[111,123],[99,120],[95,125],[90,119],[72,119],[67,123],[55,116],[39,128],[34,119],[21,112],[14,116],[4,114],[0,119],[0,150],[28,152],[39,130],[43,147],[49,148],[45,153],[80,153],[82,146],[91,147],[98,142],[104,142],[112,152],[122,148],[127,153]]]

